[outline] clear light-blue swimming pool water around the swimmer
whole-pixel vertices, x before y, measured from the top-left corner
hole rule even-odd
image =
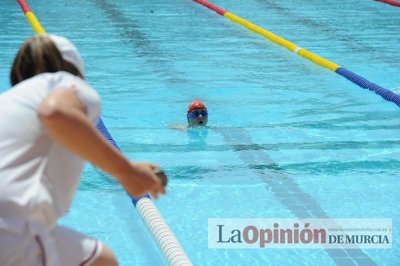
[[[395,104],[189,0],[28,3],[47,32],[80,50],[121,150],[169,176],[156,205],[195,265],[400,264]],[[396,7],[213,3],[400,93]],[[4,91],[33,31],[16,2],[0,13]],[[207,105],[209,128],[172,129],[193,99]],[[208,249],[208,218],[296,217],[392,218],[393,247]],[[166,265],[124,190],[90,165],[61,223],[107,243],[123,266]]]

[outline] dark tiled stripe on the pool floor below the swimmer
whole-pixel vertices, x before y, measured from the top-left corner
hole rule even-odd
[[[330,218],[321,205],[309,193],[304,192],[295,180],[283,169],[276,167],[276,163],[263,150],[243,149],[253,147],[250,133],[241,128],[216,130],[225,142],[239,153],[239,158],[262,179],[265,189],[272,192],[278,201],[290,210],[297,218]],[[273,166],[275,169],[259,167]],[[258,166],[258,167],[254,167]],[[268,171],[266,171],[266,169]],[[337,265],[373,266],[376,262],[364,253],[362,249],[327,248],[324,251]]]

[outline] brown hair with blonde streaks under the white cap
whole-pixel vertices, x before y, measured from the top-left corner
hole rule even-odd
[[[67,71],[81,78],[79,70],[64,60],[55,44],[45,35],[37,35],[28,39],[20,48],[11,68],[11,84],[46,72]]]

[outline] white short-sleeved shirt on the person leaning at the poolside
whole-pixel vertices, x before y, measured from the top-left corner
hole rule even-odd
[[[36,75],[0,94],[0,228],[21,231],[32,221],[51,229],[77,190],[84,160],[54,142],[37,114],[56,89],[74,91],[93,125],[99,118],[95,90],[63,71]]]

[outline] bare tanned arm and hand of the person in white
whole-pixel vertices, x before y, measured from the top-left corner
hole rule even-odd
[[[156,165],[131,163],[115,150],[86,117],[84,106],[70,90],[58,89],[50,93],[37,110],[39,120],[48,134],[60,145],[115,176],[128,193],[138,197],[165,190],[153,173]]]

